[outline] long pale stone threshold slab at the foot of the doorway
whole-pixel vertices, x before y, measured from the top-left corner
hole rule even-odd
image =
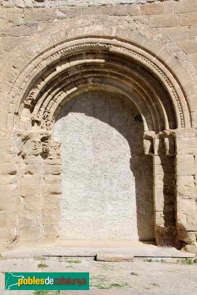
[[[134,257],[164,257],[164,258],[193,258],[195,254],[179,251],[166,247],[131,247],[129,248],[71,248],[71,247],[47,247],[47,248],[20,248],[2,252],[1,256],[29,257],[29,256],[65,256],[65,257],[94,257],[96,254],[117,254]]]

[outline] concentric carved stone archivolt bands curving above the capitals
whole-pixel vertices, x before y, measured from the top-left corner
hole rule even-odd
[[[128,40],[88,35],[66,40],[34,59],[21,76],[26,78],[16,96],[23,99],[15,99],[10,109],[19,128],[51,129],[66,101],[100,87],[130,97],[145,130],[190,126],[187,95],[178,79],[161,59]]]

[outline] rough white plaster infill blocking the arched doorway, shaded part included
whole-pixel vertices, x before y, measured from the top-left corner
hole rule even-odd
[[[154,239],[152,158],[138,114],[129,98],[99,90],[62,108],[60,239]]]

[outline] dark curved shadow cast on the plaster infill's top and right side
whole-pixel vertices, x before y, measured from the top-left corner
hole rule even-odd
[[[153,160],[152,156],[144,155],[143,123],[140,119],[134,120],[139,111],[132,101],[122,94],[92,90],[68,101],[60,111],[56,123],[70,113],[96,118],[116,129],[127,140],[131,157],[130,160],[128,157],[128,162],[124,165],[130,167],[135,182],[137,234],[139,240],[154,240]],[[60,138],[58,140],[61,141]],[[124,179],[124,175],[121,177]],[[119,238],[117,234],[116,239],[123,238]]]

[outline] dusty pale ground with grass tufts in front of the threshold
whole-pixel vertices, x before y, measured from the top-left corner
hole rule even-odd
[[[39,268],[40,263],[48,267]],[[90,272],[92,291],[61,292],[64,295],[197,295],[197,263],[177,263],[177,259],[151,262],[135,258],[134,262],[106,263],[90,257],[1,257],[0,295],[33,295],[33,291],[4,291],[4,271]]]

